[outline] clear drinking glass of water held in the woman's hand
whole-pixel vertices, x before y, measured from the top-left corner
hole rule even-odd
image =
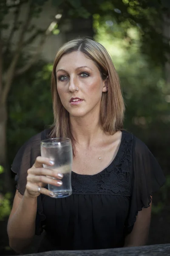
[[[43,164],[43,167],[53,169],[63,175],[62,186],[48,184],[48,189],[54,193],[54,198],[63,198],[71,195],[71,169],[73,161],[71,140],[68,138],[42,140],[41,156],[48,157],[54,161],[54,166]]]

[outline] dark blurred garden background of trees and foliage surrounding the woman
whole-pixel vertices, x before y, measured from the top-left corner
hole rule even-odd
[[[26,140],[53,123],[54,57],[79,35],[94,37],[110,52],[126,104],[124,128],[144,141],[166,175],[153,195],[148,244],[170,242],[170,1],[1,0],[0,255],[14,254],[6,233],[15,193],[11,163]]]

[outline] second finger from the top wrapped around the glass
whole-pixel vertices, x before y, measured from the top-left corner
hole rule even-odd
[[[50,176],[57,179],[63,178],[62,173],[59,173],[56,170],[48,169],[48,168],[30,168],[28,169],[28,174]]]

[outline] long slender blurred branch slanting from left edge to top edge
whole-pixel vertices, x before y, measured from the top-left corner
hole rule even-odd
[[[17,61],[20,57],[20,53],[21,53],[22,47],[23,47],[24,34],[25,34],[25,32],[28,28],[28,25],[29,25],[29,22],[30,22],[30,19],[31,19],[31,11],[32,11],[32,0],[29,1],[26,20],[23,23],[23,28],[21,29],[21,32],[20,32],[20,36],[19,36],[17,48],[16,48],[15,53],[14,53],[14,57],[11,61],[11,64],[10,64],[10,66],[7,70],[6,76],[5,76],[6,83],[5,83],[3,92],[2,92],[2,104],[5,104],[8,93],[9,93],[9,90],[10,90],[10,87],[11,87],[11,83],[12,83],[12,80],[13,80],[13,77],[14,77],[14,71],[15,71],[15,68],[16,68],[16,65],[17,65]]]

